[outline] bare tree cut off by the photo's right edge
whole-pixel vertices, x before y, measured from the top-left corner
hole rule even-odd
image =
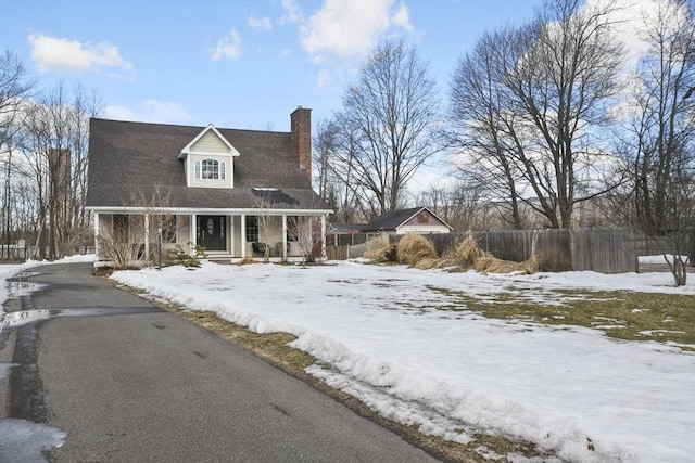
[[[664,240],[677,285],[686,281],[695,229],[695,21],[692,3],[670,0],[645,24],[648,53],[633,80],[622,151],[632,171],[636,226]],[[666,255],[667,252],[665,252]],[[666,256],[665,256],[666,257]]]

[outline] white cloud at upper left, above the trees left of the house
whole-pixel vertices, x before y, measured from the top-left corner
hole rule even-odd
[[[104,41],[97,44],[78,40],[29,35],[31,60],[41,73],[83,73],[103,67],[132,70],[132,65],[121,57],[118,48]]]

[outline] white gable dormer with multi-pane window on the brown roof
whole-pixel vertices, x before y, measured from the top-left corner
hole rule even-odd
[[[207,125],[181,150],[186,184],[197,188],[233,188],[233,158],[239,152],[212,125]]]

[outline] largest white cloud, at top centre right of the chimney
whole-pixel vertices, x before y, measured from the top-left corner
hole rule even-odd
[[[302,47],[319,62],[329,57],[362,57],[392,26],[414,30],[407,8],[401,5],[392,12],[393,3],[394,0],[326,0],[302,24]]]

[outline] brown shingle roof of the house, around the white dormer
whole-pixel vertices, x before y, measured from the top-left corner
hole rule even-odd
[[[167,207],[257,207],[257,188],[273,188],[274,208],[330,209],[300,168],[289,132],[219,129],[241,154],[233,158],[233,189],[188,188],[186,146],[204,127],[91,119],[88,207],[142,207],[167,196]],[[160,193],[157,193],[157,190]],[[266,193],[264,193],[266,194]]]

